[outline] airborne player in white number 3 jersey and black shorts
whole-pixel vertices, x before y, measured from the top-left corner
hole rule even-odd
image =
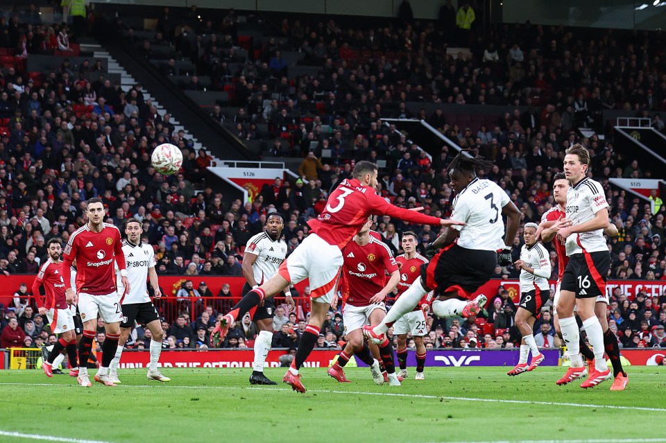
[[[490,166],[492,163],[483,157],[467,153],[452,160],[449,177],[456,198],[451,219],[459,225],[447,228],[429,246],[429,250],[443,249],[421,266],[421,277],[393,304],[384,321],[364,327],[366,337],[373,342],[382,342],[388,328],[413,310],[430,290],[438,294],[432,311],[440,318],[470,317],[486,304],[485,295],[473,297],[472,293],[493,275],[498,258],[502,265],[511,263],[511,245],[520,223],[520,211],[506,192],[497,183],[477,177],[477,168]],[[502,216],[509,220],[506,235]]]

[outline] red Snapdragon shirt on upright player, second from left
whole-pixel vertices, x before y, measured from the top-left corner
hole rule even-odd
[[[71,263],[76,261],[76,291],[91,295],[106,295],[116,290],[114,264],[126,269],[120,230],[104,223],[101,232],[92,232],[86,223],[71,234],[62,254],[62,274],[65,281],[71,275]]]

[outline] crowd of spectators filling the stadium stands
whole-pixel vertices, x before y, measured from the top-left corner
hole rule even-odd
[[[0,20],[0,35],[6,38],[0,46],[17,54],[22,53],[19,49],[26,56],[55,51],[47,44],[51,34],[67,35],[65,25],[27,24],[18,18]],[[182,26],[178,31],[177,25],[185,23],[169,19],[167,11],[167,19],[158,22],[158,34],[163,33],[159,38],[173,45],[176,57],[195,60],[201,73],[212,76],[215,87],[232,85],[237,114],[224,116],[214,110],[212,117],[232,121],[244,139],[275,139],[275,155],[302,157],[298,180],[276,178],[245,204],[228,202],[203,184],[202,172],[212,159],[203,150],[195,152],[192,141],[174,130],[169,114],[160,115],[144,99],[141,85],[124,91],[103,78],[85,80],[80,74],[89,69],[103,76],[92,59],[93,67],[67,62],[40,76],[16,67],[3,69],[0,119],[6,131],[0,139],[0,272],[36,274],[46,255],[46,241],[54,237],[67,241],[84,223],[85,200],[100,197],[110,223],[121,226],[129,217],[142,221],[142,240],[155,245],[159,275],[186,276],[177,297],[201,299],[197,309],[182,309],[163,319],[164,347],[205,346],[216,314],[223,310],[207,297],[229,294],[228,287],[212,294],[205,277],[241,275],[244,245],[264,229],[266,215],[273,211],[287,217],[283,234],[290,251],[297,247],[308,234],[305,222],[322,210],[328,193],[350,177],[354,162],[386,160],[379,192],[395,205],[450,215],[453,196],[446,166],[454,153],[444,147],[430,159],[395,127],[382,123],[386,117],[411,117],[404,103],[421,101],[529,107],[524,113],[516,109],[497,116],[494,128],[478,128],[476,134],[470,128],[447,125],[441,112],[419,115],[459,146],[495,160],[493,169],[481,174],[506,189],[522,211],[522,223],[538,223],[554,204],[552,176],[561,170],[565,148],[574,143],[589,148],[592,174],[604,184],[610,217],[620,231],[608,239],[613,254],[610,277],[666,279],[666,207],[654,196],[653,210],[649,203],[608,183],[609,177],[650,177],[649,165],[617,152],[601,121],[603,109],[623,109],[638,116],[666,109],[666,78],[658,75],[664,69],[657,53],[660,35],[620,36],[608,31],[590,38],[579,29],[502,25],[486,37],[472,38],[471,55],[447,55],[447,44],[454,38],[447,34],[450,19],[444,13],[440,23],[412,20],[377,30],[284,19],[282,36],[268,40],[259,48],[257,60],[232,73],[225,71],[232,59],[224,58],[234,58],[239,42],[234,12],[219,28],[206,20],[197,21],[196,28],[190,23],[189,29],[198,33],[203,32],[200,27],[210,26],[223,36],[219,45],[192,46],[183,42]],[[155,44],[135,43],[144,49]],[[321,71],[314,77],[287,78],[287,64],[280,58],[284,50],[302,51],[307,63]],[[533,98],[537,93],[539,103]],[[258,125],[270,130],[260,134]],[[658,116],[654,125],[663,130]],[[606,137],[582,137],[580,126],[606,131]],[[164,142],[180,147],[185,159],[182,171],[169,177],[156,173],[150,164],[151,149]],[[332,150],[331,157],[322,159],[322,150]],[[417,232],[420,247],[439,233],[439,227],[405,225],[388,217],[379,218],[374,229],[394,254],[400,253],[404,230]],[[515,239],[514,259],[523,243],[521,234]],[[551,258],[556,276],[554,252]],[[498,266],[495,277],[514,279],[518,272]],[[0,347],[40,347],[55,339],[34,306],[26,303],[28,295],[28,286],[22,284],[13,302],[3,306]],[[520,340],[513,326],[514,311],[508,291],[500,287],[479,315],[494,325],[494,333],[481,333],[475,322],[430,317],[426,347],[513,347]],[[543,347],[558,345],[550,312],[545,306],[535,325],[536,340]],[[616,291],[608,315],[624,347],[666,347],[666,293],[630,299]],[[297,347],[306,316],[307,311],[287,314],[278,307],[273,346]],[[254,339],[257,331],[249,318],[239,323],[228,333],[225,346],[247,347]],[[322,331],[319,347],[341,349],[345,336],[339,313],[330,313]],[[146,347],[147,334],[137,328],[128,346]]]

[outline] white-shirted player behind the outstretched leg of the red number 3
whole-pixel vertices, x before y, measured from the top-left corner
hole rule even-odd
[[[278,272],[278,267],[287,256],[287,243],[282,240],[282,229],[284,229],[284,216],[273,212],[266,217],[264,232],[253,236],[248,241],[243,254],[243,276],[246,280],[243,295],[257,288]],[[287,297],[287,304],[292,309],[294,303],[289,285],[284,288],[284,296]],[[263,304],[257,306],[257,310],[252,316],[259,333],[254,345],[255,360],[252,363],[253,370],[250,375],[251,385],[278,384],[264,375],[264,364],[273,340],[273,316],[275,316],[273,297],[265,299]]]

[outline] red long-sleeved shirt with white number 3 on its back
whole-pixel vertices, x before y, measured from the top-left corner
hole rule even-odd
[[[362,186],[361,182],[355,179],[343,180],[329,196],[322,213],[307,224],[311,232],[323,238],[326,243],[342,249],[358,234],[370,215],[386,215],[422,225],[440,224],[439,218],[391,205],[377,196],[375,189]]]

